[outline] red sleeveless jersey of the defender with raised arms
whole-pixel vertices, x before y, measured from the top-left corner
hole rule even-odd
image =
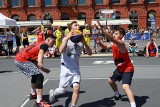
[[[129,58],[127,49],[125,53],[121,53],[118,47],[115,44],[113,44],[112,52],[114,63],[120,72],[134,72],[134,67]]]

